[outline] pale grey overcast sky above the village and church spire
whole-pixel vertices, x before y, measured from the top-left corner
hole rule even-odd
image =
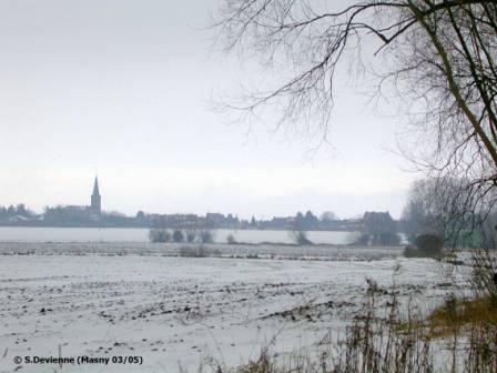
[[[98,172],[103,209],[129,214],[399,216],[398,119],[361,87],[337,88],[333,148],[313,158],[271,118],[247,132],[211,110],[247,74],[212,47],[217,3],[0,0],[0,204],[88,204]]]

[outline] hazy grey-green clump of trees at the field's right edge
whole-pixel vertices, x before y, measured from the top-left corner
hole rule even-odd
[[[409,242],[438,238],[447,248],[497,249],[497,195],[480,194],[465,179],[415,181],[400,224]]]

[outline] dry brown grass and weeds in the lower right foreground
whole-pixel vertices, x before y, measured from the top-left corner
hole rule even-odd
[[[410,308],[409,308],[410,309]],[[489,299],[449,298],[430,315],[402,315],[395,295],[378,316],[374,289],[345,337],[327,350],[260,356],[243,366],[210,364],[213,373],[495,373],[497,309]],[[212,361],[211,361],[212,362]]]

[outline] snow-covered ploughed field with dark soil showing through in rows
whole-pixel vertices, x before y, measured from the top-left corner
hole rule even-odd
[[[271,260],[175,258],[159,249],[116,254],[118,243],[31,244],[0,245],[0,372],[59,372],[57,364],[13,362],[59,354],[142,357],[140,367],[68,364],[61,372],[178,372],[180,363],[193,371],[207,356],[234,365],[268,344],[287,352],[343,333],[361,309],[366,279],[386,289],[396,265],[399,294],[426,308],[452,290],[435,261],[402,259],[399,249],[321,248],[331,253],[326,260]],[[278,258],[294,248],[273,249]]]

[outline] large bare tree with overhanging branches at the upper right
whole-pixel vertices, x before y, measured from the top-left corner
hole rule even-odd
[[[364,54],[373,54],[368,60],[378,62],[371,65],[373,80],[365,81],[379,97],[395,92],[408,102],[414,125],[407,133],[416,141],[404,154],[425,170],[443,171],[438,178],[467,181],[462,186],[485,198],[497,185],[496,2],[328,7],[312,0],[223,1],[216,26],[226,51],[256,52],[275,77],[274,87],[245,92],[226,107],[244,117],[275,108],[278,128],[325,135],[341,62],[361,69]]]

